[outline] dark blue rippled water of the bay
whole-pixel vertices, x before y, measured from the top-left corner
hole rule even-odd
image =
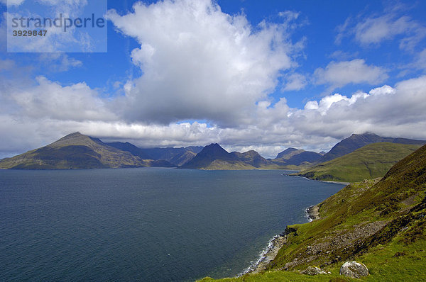
[[[341,185],[283,171],[0,171],[0,281],[235,276]]]

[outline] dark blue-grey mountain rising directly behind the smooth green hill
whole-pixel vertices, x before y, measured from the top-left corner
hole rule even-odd
[[[365,145],[377,142],[391,142],[406,145],[425,145],[425,140],[411,140],[405,138],[381,137],[373,133],[353,134],[332,147],[332,150],[324,154],[320,162],[327,162],[337,157],[342,157],[345,154],[354,152],[356,149],[364,147]]]

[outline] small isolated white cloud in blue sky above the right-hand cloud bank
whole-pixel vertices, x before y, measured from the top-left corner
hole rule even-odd
[[[386,69],[368,65],[364,60],[330,62],[325,69],[318,68],[314,73],[317,84],[329,84],[336,89],[347,84],[379,84],[388,78]]]

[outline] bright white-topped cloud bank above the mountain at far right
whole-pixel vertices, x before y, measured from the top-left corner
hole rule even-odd
[[[309,101],[292,115],[293,125],[306,135],[347,136],[351,132],[426,139],[426,77],[382,86],[350,98],[340,94]]]

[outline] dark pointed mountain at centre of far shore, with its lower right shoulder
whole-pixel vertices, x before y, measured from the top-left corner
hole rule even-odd
[[[259,169],[278,168],[276,164],[261,157],[256,151],[244,153],[226,152],[219,144],[211,144],[202,149],[182,169]]]

